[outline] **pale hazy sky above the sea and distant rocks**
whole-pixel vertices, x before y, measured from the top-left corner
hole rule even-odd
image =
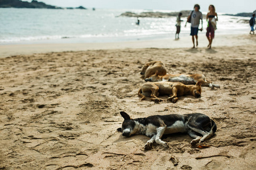
[[[23,0],[26,1],[26,0]],[[240,13],[256,10],[256,0],[38,0],[48,5],[60,7],[86,8],[121,8],[121,9],[147,9],[147,10],[192,10],[198,3],[201,11],[208,11],[210,4],[214,5],[216,12]],[[28,1],[31,2],[31,1]]]

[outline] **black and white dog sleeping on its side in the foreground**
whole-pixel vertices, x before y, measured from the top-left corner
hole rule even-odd
[[[188,133],[190,137],[195,138],[191,145],[196,145],[197,142],[201,143],[212,137],[217,129],[215,122],[202,113],[154,115],[135,119],[131,119],[125,112],[120,114],[125,120],[122,128],[117,130],[122,132],[123,136],[143,134],[151,138],[144,146],[145,150],[150,149],[154,142],[168,148],[168,144],[161,140],[163,134]]]

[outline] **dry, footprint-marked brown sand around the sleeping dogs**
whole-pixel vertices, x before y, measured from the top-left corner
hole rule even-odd
[[[254,45],[1,58],[0,169],[256,169],[256,41],[245,38]],[[154,60],[168,73],[204,74],[221,88],[203,87],[200,99],[184,96],[175,104],[140,101],[139,73]],[[204,113],[217,131],[205,142],[209,148],[192,148],[191,137],[172,134],[163,137],[171,148],[144,151],[148,137],[116,131],[120,111],[133,118]]]

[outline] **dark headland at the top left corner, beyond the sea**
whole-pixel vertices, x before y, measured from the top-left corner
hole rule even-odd
[[[46,3],[32,1],[20,1],[20,0],[0,0],[1,8],[49,8],[49,9],[62,9],[61,7],[56,7],[52,5],[46,5]]]

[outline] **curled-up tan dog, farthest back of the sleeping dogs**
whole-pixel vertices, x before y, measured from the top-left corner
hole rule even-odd
[[[166,66],[161,61],[151,61],[142,67],[141,75],[143,79],[149,78],[158,71],[159,75],[166,75]]]

